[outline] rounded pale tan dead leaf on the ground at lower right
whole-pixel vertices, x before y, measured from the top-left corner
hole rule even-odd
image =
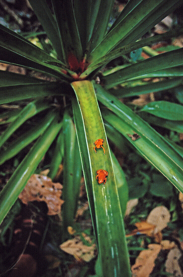
[[[155,225],[154,234],[167,227],[167,223],[170,220],[170,213],[164,206],[159,206],[153,209],[147,217],[147,222]]]

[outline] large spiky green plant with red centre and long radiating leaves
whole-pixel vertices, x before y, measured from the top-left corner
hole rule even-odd
[[[110,277],[130,276],[122,217],[127,201],[127,186],[117,160],[113,153],[110,154],[107,137],[119,149],[125,137],[143,157],[183,192],[181,150],[166,141],[147,122],[118,100],[124,96],[161,91],[180,84],[183,76],[183,50],[180,48],[104,71],[100,78],[103,86],[96,84],[93,78],[116,57],[125,57],[125,54],[136,49],[182,33],[182,30],[169,31],[163,35],[139,40],[172,12],[172,9],[179,7],[182,1],[130,0],[109,30],[108,22],[114,0],[51,2],[52,9],[48,7],[46,0],[30,0],[57,58],[15,32],[0,26],[0,62],[39,71],[56,79],[49,82],[10,72],[0,74],[0,104],[35,99],[19,113],[6,114],[10,124],[0,137],[1,164],[39,137],[1,191],[0,220],[2,222],[57,137],[49,176],[54,177],[63,158],[63,238],[67,237],[67,226],[72,225],[74,220],[82,162],[102,265],[101,274]],[[145,77],[166,79],[156,84],[112,89],[117,84]],[[61,105],[61,109],[57,109],[45,98],[55,96],[59,101],[61,95],[72,104],[75,127],[69,109],[65,109],[63,116],[64,107]],[[159,107],[157,103],[156,105],[155,110]],[[41,111],[46,111],[46,116],[40,117],[39,126],[31,127],[12,145],[6,144],[7,139],[20,125]],[[104,139],[105,155],[102,149],[95,153],[93,143],[97,139]],[[99,169],[108,171],[105,184],[99,184],[96,179],[96,171]]]

